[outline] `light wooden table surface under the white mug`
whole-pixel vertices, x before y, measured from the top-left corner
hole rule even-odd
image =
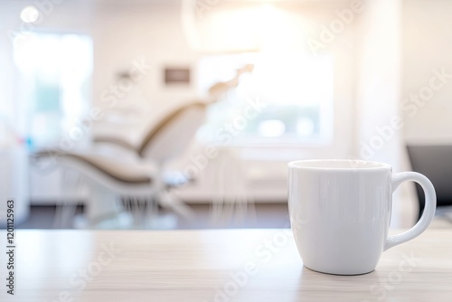
[[[383,253],[377,269],[303,267],[289,230],[16,231],[14,296],[0,301],[452,301],[452,230]]]

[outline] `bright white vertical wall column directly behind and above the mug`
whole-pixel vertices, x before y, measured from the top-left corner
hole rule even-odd
[[[357,157],[400,169],[400,1],[367,2],[357,69]]]

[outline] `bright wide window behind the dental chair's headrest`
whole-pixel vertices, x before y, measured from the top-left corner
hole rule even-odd
[[[329,57],[289,52],[209,56],[200,62],[199,83],[204,93],[212,85],[230,88],[209,109],[198,134],[203,142],[285,146],[325,144],[332,138]]]

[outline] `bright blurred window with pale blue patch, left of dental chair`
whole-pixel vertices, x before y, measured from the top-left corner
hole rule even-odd
[[[28,139],[33,146],[57,145],[89,109],[91,39],[72,33],[20,33],[14,62],[28,105],[22,109],[28,117]]]

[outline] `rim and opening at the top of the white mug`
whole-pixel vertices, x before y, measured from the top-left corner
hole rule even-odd
[[[318,165],[316,165],[318,164]],[[320,165],[323,164],[323,165]],[[328,165],[329,164],[329,165]],[[306,159],[295,160],[287,164],[288,168],[306,169],[306,170],[334,170],[334,171],[350,171],[350,170],[391,170],[391,165],[376,161],[368,161],[363,159]]]

